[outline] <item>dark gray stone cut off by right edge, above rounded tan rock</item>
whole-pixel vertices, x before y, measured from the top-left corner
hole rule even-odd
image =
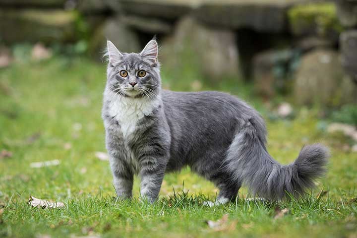
[[[357,83],[357,30],[345,31],[341,34],[340,51],[342,65]]]

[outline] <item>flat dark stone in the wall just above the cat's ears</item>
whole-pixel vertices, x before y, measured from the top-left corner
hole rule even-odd
[[[168,34],[172,24],[158,18],[123,15],[120,20],[129,27],[150,34]]]

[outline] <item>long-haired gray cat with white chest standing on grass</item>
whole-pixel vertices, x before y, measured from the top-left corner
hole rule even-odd
[[[131,197],[138,174],[141,196],[154,202],[164,174],[186,165],[216,184],[217,203],[235,199],[242,182],[277,200],[302,194],[324,174],[328,150],[320,144],[304,146],[290,165],[276,162],[266,149],[263,119],[238,98],[162,90],[155,40],[139,54],[120,53],[108,41],[106,55],[102,117],[119,198]]]

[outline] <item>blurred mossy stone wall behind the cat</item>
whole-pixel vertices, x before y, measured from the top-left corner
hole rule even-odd
[[[0,9],[7,45],[81,40],[100,59],[106,39],[139,52],[157,35],[163,69],[185,77],[251,80],[264,97],[293,93],[300,104],[357,100],[357,0],[0,0]]]

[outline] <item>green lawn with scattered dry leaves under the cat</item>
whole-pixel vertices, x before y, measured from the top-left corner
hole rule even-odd
[[[357,237],[357,153],[344,150],[347,138],[321,129],[314,110],[299,110],[294,120],[267,121],[268,149],[281,163],[292,162],[306,143],[331,148],[327,176],[300,200],[247,201],[241,189],[236,203],[205,207],[217,189],[186,168],[165,176],[153,205],[139,201],[138,179],[134,199],[116,201],[109,164],[95,157],[105,151],[105,65],[57,57],[0,70],[0,150],[12,152],[0,158],[0,237]],[[192,83],[177,84],[169,73],[163,81],[173,90]],[[222,83],[202,90],[213,88],[249,100],[267,118],[249,87]],[[55,159],[60,165],[30,167]],[[65,207],[32,208],[30,194]],[[274,219],[283,208],[289,212]],[[206,223],[220,219],[218,228]]]

